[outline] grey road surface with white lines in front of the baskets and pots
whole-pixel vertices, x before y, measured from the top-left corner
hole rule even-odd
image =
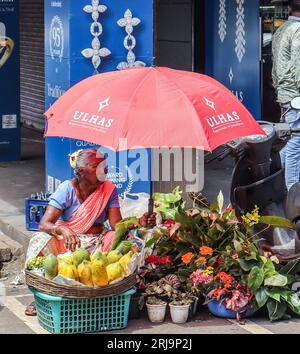
[[[0,305],[0,334],[47,334],[38,323],[37,317],[24,315],[25,306],[33,296],[25,286],[12,288],[8,286],[5,306]],[[192,321],[183,325],[172,323],[169,315],[165,322],[153,324],[149,322],[147,313],[141,318],[132,319],[128,327],[108,333],[117,334],[300,334],[300,319],[270,322],[265,314],[258,314],[240,324],[236,320],[216,318],[203,307]]]

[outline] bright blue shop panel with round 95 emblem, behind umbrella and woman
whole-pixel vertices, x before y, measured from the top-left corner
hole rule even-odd
[[[123,45],[126,32],[117,21],[124,17],[130,9],[133,17],[138,17],[141,24],[134,27],[133,35],[137,40],[134,49],[136,60],[145,62],[147,66],[153,64],[153,0],[101,0],[107,10],[100,13],[98,22],[101,23],[103,33],[99,36],[101,47],[108,48],[111,55],[101,58],[102,63],[98,72],[116,70],[120,62],[126,61],[127,50]],[[82,50],[91,48],[93,35],[90,28],[94,22],[91,14],[83,11],[90,0],[45,0],[45,93],[47,110],[69,87],[95,74],[95,68],[90,59],[86,59]],[[46,184],[52,191],[57,185],[72,177],[68,154],[80,148],[94,147],[93,144],[83,141],[63,138],[46,139]],[[124,152],[122,154],[127,154]],[[120,157],[120,154],[117,154]],[[121,156],[122,157],[122,156]],[[134,159],[130,160],[131,162]],[[123,172],[124,183],[116,184],[119,194],[122,194],[130,184],[128,175],[124,175],[124,166],[112,166],[109,173]],[[150,171],[150,153],[147,161]],[[149,172],[150,173],[150,172]],[[122,178],[121,178],[122,179]],[[150,181],[136,182],[131,188],[132,193],[150,193]]]

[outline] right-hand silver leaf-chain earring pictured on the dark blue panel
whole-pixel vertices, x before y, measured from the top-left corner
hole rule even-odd
[[[236,39],[235,39],[235,52],[238,61],[241,63],[246,53],[246,32],[245,32],[245,0],[236,0]]]

